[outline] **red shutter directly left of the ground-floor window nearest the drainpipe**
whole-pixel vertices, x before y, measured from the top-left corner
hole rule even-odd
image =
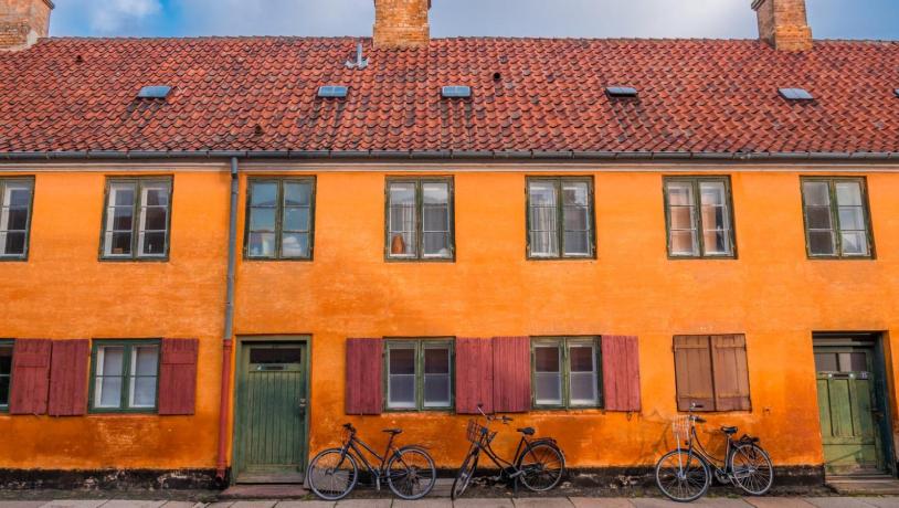
[[[88,340],[54,340],[50,362],[51,416],[81,416],[87,411]]]

